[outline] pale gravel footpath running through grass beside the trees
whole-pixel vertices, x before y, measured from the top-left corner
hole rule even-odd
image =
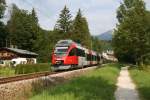
[[[128,67],[121,69],[117,87],[115,92],[116,100],[139,100],[139,95],[135,84],[130,78]]]

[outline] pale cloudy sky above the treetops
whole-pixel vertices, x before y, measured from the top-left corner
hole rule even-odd
[[[144,0],[150,10],[150,0]],[[66,5],[73,18],[80,8],[87,18],[92,35],[99,35],[115,28],[116,10],[121,0],[6,0],[8,7],[14,3],[20,9],[31,11],[35,8],[39,24],[43,29],[52,30],[59,18],[60,11]]]

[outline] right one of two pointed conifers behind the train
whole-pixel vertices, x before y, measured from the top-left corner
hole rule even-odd
[[[88,23],[86,18],[82,16],[80,9],[73,23],[72,39],[88,48],[91,47],[91,36]]]

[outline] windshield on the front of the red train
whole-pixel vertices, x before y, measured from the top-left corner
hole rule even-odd
[[[67,51],[68,51],[68,47],[57,47],[55,49],[55,54],[57,56],[65,56],[67,54]]]

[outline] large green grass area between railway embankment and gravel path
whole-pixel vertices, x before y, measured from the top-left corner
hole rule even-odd
[[[30,100],[115,100],[119,68],[119,64],[105,65],[62,85],[47,88]]]

